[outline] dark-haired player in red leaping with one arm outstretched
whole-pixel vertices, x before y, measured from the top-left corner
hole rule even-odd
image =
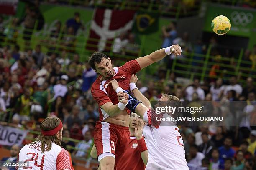
[[[162,60],[166,55],[174,53],[181,55],[179,45],[152,52],[145,57],[126,62],[121,67],[112,67],[111,60],[105,54],[95,52],[89,59],[89,64],[100,76],[92,84],[92,96],[99,105],[100,121],[96,123],[94,143],[101,170],[116,168],[130,138],[130,111],[120,106],[115,90],[109,85],[110,80],[117,80],[120,87],[129,89],[132,74]],[[131,110],[132,111],[132,110]]]

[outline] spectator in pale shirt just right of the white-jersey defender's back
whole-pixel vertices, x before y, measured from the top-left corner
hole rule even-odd
[[[198,152],[197,150],[197,145],[190,146],[188,163],[195,166],[201,166],[202,159],[205,158],[205,155]]]

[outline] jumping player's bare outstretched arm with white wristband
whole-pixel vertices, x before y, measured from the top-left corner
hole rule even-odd
[[[149,55],[146,55],[145,57],[139,57],[137,58],[137,62],[140,65],[141,69],[147,67],[148,65],[153,64],[154,62],[158,62],[162,60],[167,54],[174,53],[174,55],[181,55],[181,47],[179,45],[172,45],[167,48],[162,48],[160,50],[157,50],[155,52],[152,52]]]

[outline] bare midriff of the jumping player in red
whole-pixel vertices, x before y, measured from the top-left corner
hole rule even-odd
[[[125,110],[120,115],[115,117],[108,117],[105,119],[105,122],[114,123],[115,125],[129,127],[129,115]]]

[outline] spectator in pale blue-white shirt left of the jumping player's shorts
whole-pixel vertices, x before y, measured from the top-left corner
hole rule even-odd
[[[93,146],[92,136],[91,136],[90,131],[87,131],[84,134],[84,140],[82,140],[80,143],[77,144],[77,146],[76,146],[77,152],[75,153],[75,155],[77,157],[85,157],[86,158],[88,156],[87,154],[90,155],[92,146]]]

